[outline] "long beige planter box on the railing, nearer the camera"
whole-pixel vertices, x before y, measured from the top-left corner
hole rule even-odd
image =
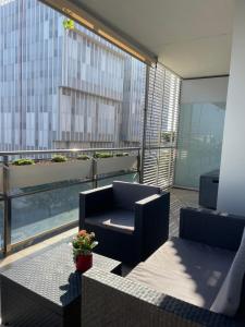
[[[27,166],[10,166],[10,189],[28,187],[61,181],[91,178],[91,160],[70,162],[48,162]],[[2,192],[2,171],[0,172],[0,191]]]

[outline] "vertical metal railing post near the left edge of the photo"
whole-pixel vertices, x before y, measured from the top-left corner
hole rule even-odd
[[[7,256],[11,250],[11,198],[9,197],[9,157],[3,156],[3,255]]]

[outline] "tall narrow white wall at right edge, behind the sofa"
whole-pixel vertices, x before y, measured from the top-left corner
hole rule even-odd
[[[235,3],[218,209],[245,215],[245,1]]]

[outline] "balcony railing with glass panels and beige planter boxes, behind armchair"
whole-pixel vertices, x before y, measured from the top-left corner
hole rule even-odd
[[[99,149],[99,152],[106,150],[107,149],[103,148]],[[76,223],[78,225],[78,194],[79,192],[93,189],[95,184],[98,186],[107,185],[111,184],[114,180],[138,182],[139,172],[136,170],[138,168],[138,148],[119,148],[113,150],[117,150],[117,154],[127,150],[131,155],[121,157],[114,154],[111,160],[108,158],[105,159],[107,165],[103,166],[101,164],[103,158],[99,158],[100,171],[98,170],[98,165],[94,166],[90,161],[78,161],[75,159],[81,153],[89,153],[89,155],[93,156],[94,149],[86,149],[84,152],[73,150],[72,154],[70,154],[69,149],[59,152],[50,150],[48,154],[46,152],[17,152],[11,156],[2,153],[2,156],[8,156],[8,162],[11,162],[20,156],[32,157],[39,155],[49,156],[49,158],[47,158],[47,161],[49,161],[50,156],[57,153],[62,153],[69,156],[69,158],[74,157],[74,159],[70,160],[71,162],[52,162],[47,166],[45,166],[41,160],[40,162],[37,161],[35,166],[28,167],[17,167],[9,164],[8,174],[4,174],[8,179],[4,187],[4,171],[1,169],[0,192],[1,194],[5,192],[11,203],[11,210],[9,210],[8,217],[11,230],[7,229],[7,244],[2,244],[4,241],[4,238],[2,238],[4,230],[4,204],[1,203],[0,198],[0,233],[2,233],[0,235],[0,246],[10,249],[8,246],[11,244],[14,246],[29,244],[30,239],[35,241],[38,240],[40,235],[48,237],[72,228],[76,226]],[[87,166],[89,167],[85,173],[84,170]],[[107,171],[105,171],[105,167],[107,167]],[[47,171],[42,171],[44,168]],[[41,172],[39,170],[41,170]]]

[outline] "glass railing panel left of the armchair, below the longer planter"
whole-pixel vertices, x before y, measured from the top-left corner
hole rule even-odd
[[[78,194],[90,182],[12,198],[11,243],[16,243],[69,222],[78,222]]]

